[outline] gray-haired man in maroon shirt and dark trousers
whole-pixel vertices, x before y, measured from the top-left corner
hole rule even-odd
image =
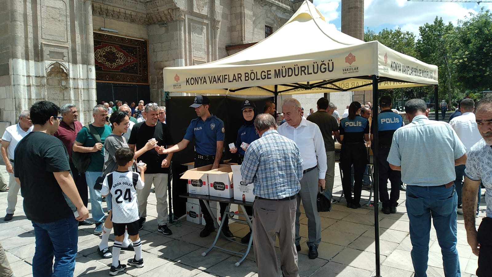
[[[75,186],[77,187],[77,191],[80,194],[80,198],[82,199],[84,206],[87,207],[89,196],[87,194],[86,175],[85,173],[80,173],[77,168],[75,168],[71,160],[72,145],[77,137],[77,134],[82,129],[82,124],[79,121],[79,114],[77,113],[77,107],[75,104],[62,105],[60,108],[60,113],[62,114],[63,119],[60,121],[57,132],[53,135],[62,140],[63,145],[65,145],[68,152],[68,161]],[[92,225],[92,222],[89,220],[83,220],[79,221],[79,226],[80,225]]]

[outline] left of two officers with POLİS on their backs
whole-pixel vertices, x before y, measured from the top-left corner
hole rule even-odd
[[[365,141],[369,141],[369,121],[361,116],[361,104],[352,102],[348,117],[340,121],[340,166],[343,173],[342,188],[348,208],[360,208],[362,177],[368,164]],[[354,197],[350,191],[351,168],[354,165]]]

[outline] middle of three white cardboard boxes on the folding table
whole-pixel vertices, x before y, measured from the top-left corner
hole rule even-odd
[[[209,175],[210,196],[232,198],[234,196],[231,166],[207,172]]]

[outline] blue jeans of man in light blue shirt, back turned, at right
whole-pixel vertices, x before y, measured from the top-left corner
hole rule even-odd
[[[406,210],[410,219],[410,241],[415,277],[427,277],[431,216],[441,246],[442,264],[446,277],[460,277],[458,260],[455,187],[406,186]]]

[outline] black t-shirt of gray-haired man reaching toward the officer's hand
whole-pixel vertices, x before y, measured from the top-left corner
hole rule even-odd
[[[157,145],[159,146],[174,144],[171,138],[171,132],[166,124],[157,122],[154,127],[151,127],[145,124],[145,121],[133,126],[130,139],[128,139],[128,144],[136,144],[138,151],[142,149],[151,138],[155,138],[157,140]],[[145,173],[168,173],[169,168],[161,168],[162,160],[164,160],[166,156],[167,155],[159,155],[157,151],[151,149],[138,157],[137,160],[147,164]]]

